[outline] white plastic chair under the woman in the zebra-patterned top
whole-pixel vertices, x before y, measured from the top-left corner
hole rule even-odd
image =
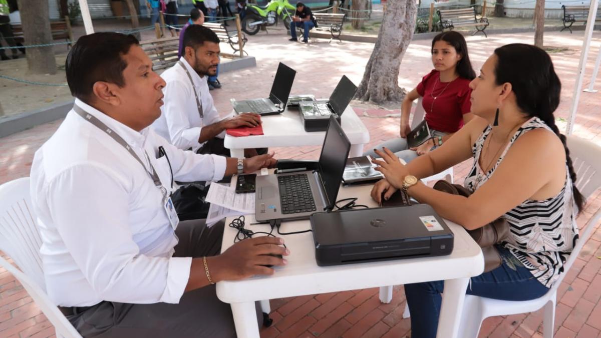
[[[576,186],[578,186],[582,195],[588,198],[594,191],[601,187],[601,147],[577,137],[569,137],[567,144],[578,179]],[[531,301],[500,301],[466,295],[459,327],[459,337],[477,337],[484,318],[534,312],[544,307],[543,334],[545,338],[552,338],[555,325],[557,288],[576,260],[576,257],[578,257],[578,253],[587,242],[588,236],[591,235],[600,217],[601,209],[593,215],[584,229],[581,230],[576,247],[572,250],[564,266],[565,272],[560,275],[554,286],[543,297]]]

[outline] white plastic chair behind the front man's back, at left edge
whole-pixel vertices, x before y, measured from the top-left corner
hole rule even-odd
[[[0,185],[0,250],[19,266],[0,257],[0,266],[13,274],[54,325],[56,337],[81,338],[46,295],[40,256],[41,238],[31,209],[29,177]]]

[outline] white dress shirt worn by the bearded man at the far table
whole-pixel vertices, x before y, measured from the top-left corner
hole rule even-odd
[[[219,118],[219,113],[213,103],[213,97],[209,93],[206,76],[201,78],[185,58],[182,57],[180,60],[190,72],[194,87],[180,64],[176,63],[173,67],[165,70],[161,75],[166,82],[165,88],[163,88],[165,105],[160,108],[160,117],[154,121],[152,128],[157,134],[171,141],[175,147],[182,150],[192,148],[196,152],[204,144],[198,142],[201,129],[218,122],[221,118]],[[203,118],[198,113],[194,88],[196,88],[198,100],[203,105]],[[224,138],[225,132],[217,136]]]

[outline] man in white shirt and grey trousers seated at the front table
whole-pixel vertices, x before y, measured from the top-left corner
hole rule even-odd
[[[217,281],[273,274],[275,237],[222,254],[224,224],[178,224],[173,180],[219,180],[273,164],[183,152],[150,124],[165,82],[133,35],[84,35],[66,61],[73,110],[35,153],[31,196],[47,293],[84,337],[233,337]]]

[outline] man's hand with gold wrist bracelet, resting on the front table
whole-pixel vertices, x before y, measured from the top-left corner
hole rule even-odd
[[[211,277],[215,282],[241,280],[254,275],[272,275],[273,268],[265,265],[282,266],[287,260],[270,255],[288,256],[290,250],[282,247],[284,239],[261,236],[244,239],[232,245],[224,253],[207,257]]]

